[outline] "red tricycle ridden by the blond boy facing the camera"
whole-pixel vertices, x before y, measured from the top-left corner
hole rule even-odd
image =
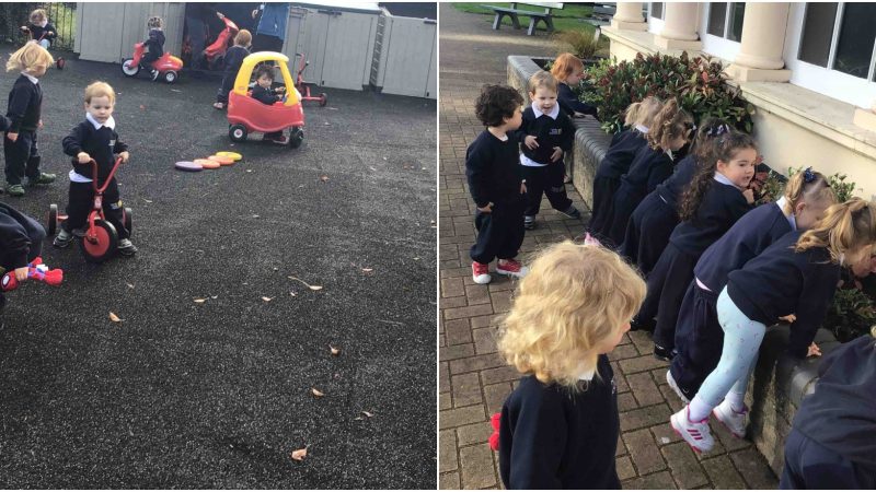
[[[92,263],[103,262],[115,254],[118,247],[118,233],[116,232],[116,227],[107,221],[103,214],[103,192],[106,190],[113,176],[115,176],[119,164],[122,164],[122,157],[116,157],[113,169],[110,171],[110,175],[106,176],[106,181],[104,181],[103,186],[99,187],[97,163],[93,159],[91,160],[93,169],[91,183],[94,187],[94,206],[92,207],[91,213],[89,213],[88,230],[79,242],[79,249],[82,251],[85,260]],[[49,236],[55,235],[58,225],[65,220],[67,220],[67,215],[59,214],[58,206],[51,203],[48,211],[47,232]],[[131,210],[127,207],[122,209],[122,222],[125,224],[125,229],[129,232],[132,231]]]

